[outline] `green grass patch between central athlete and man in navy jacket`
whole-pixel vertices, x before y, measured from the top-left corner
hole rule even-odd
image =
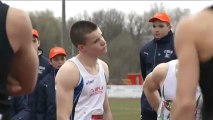
[[[139,120],[140,99],[110,98],[113,120]]]

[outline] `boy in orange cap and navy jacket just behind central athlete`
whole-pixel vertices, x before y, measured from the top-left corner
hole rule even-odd
[[[62,47],[50,50],[49,61],[53,69],[39,83],[37,120],[56,120],[55,76],[66,61],[66,56]]]

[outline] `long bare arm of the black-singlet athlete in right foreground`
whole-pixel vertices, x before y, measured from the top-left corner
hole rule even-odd
[[[175,47],[179,59],[179,70],[176,98],[171,111],[172,120],[195,119],[195,92],[199,80],[199,60],[194,43],[195,39],[199,38],[199,33],[194,27],[196,24],[193,24],[193,20],[185,19],[177,26]]]

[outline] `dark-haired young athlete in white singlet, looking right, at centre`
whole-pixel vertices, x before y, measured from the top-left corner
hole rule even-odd
[[[99,27],[78,21],[70,31],[78,54],[56,75],[57,120],[112,120],[106,85],[108,65],[99,59],[107,44]]]

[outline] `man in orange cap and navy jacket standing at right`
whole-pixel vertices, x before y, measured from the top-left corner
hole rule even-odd
[[[149,19],[149,22],[152,23],[154,39],[148,42],[140,51],[140,66],[143,80],[158,64],[177,58],[174,50],[170,17],[164,12],[158,12]],[[141,96],[141,119],[157,119],[157,113],[149,105],[144,93]]]

